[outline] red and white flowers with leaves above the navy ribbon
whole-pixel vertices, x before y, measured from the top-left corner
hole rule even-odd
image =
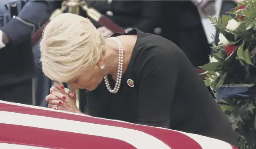
[[[228,13],[235,17],[210,18],[219,31],[219,43],[213,42],[210,63],[200,67],[206,70],[204,82],[213,91],[224,84],[256,82],[256,2],[240,2]]]

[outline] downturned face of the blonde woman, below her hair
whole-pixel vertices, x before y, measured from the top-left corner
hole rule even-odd
[[[98,87],[104,77],[104,71],[99,67],[86,69],[84,73],[77,78],[70,80],[68,84],[73,90],[78,88],[92,91]]]

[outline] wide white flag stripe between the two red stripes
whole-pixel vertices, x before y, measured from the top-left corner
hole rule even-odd
[[[44,116],[34,116],[7,111],[0,111],[0,123],[114,138],[125,141],[137,149],[171,149],[164,142],[147,133],[122,127],[99,125]]]

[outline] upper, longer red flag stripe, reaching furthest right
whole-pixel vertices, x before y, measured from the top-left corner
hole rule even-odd
[[[66,119],[66,120],[75,120],[75,121],[80,121],[80,122],[89,122],[89,123],[94,123],[94,124],[135,129],[135,130],[143,131],[151,136],[154,136],[155,138],[158,138],[162,142],[165,142],[165,144],[169,145],[169,147],[171,147],[172,149],[202,149],[202,147],[195,140],[190,138],[189,136],[186,136],[183,133],[179,133],[179,132],[167,130],[167,129],[158,129],[155,127],[134,125],[134,124],[126,123],[126,122],[117,122],[117,121],[113,121],[113,120],[104,120],[104,119],[100,119],[100,118],[78,116],[78,115],[73,115],[73,114],[69,114],[69,113],[55,112],[55,111],[42,110],[42,109],[34,109],[34,108],[9,105],[9,104],[4,104],[4,103],[0,103],[0,110],[16,112],[16,113],[24,113],[24,114],[30,114],[30,115],[36,115],[36,116],[47,116],[47,117],[52,117],[52,118],[61,118],[61,119]]]

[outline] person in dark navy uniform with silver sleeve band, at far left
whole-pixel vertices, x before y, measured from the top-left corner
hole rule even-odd
[[[0,100],[32,105],[36,71],[31,34],[48,20],[54,1],[9,0],[0,4]]]

